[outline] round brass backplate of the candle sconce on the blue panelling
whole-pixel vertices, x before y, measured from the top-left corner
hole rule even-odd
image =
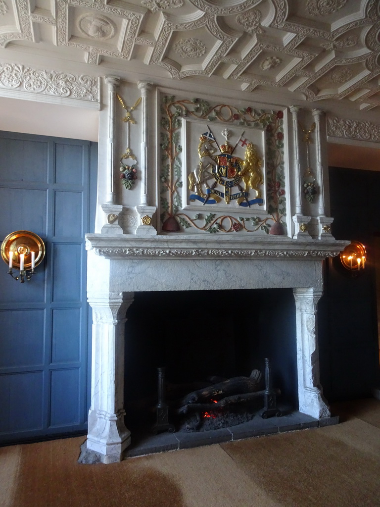
[[[31,269],[30,252],[35,252],[34,266],[38,266],[45,257],[45,243],[34,232],[15,231],[8,234],[2,243],[1,254],[6,264],[9,264],[10,251],[13,251],[13,266],[15,268],[20,268],[20,253],[24,253],[24,269]]]

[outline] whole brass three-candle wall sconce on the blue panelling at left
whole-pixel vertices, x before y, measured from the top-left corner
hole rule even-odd
[[[40,236],[29,231],[15,231],[4,239],[1,254],[3,261],[8,264],[8,274],[21,283],[30,280],[34,274],[34,268],[45,257],[45,244]],[[14,276],[13,268],[20,270],[18,276]],[[28,272],[27,272],[28,271]]]

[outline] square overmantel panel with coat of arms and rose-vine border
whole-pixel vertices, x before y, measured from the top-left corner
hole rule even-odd
[[[283,123],[282,111],[163,97],[162,231],[284,234]]]

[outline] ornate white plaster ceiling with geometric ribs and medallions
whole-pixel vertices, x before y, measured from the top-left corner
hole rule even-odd
[[[379,0],[0,0],[0,46],[380,107]]]

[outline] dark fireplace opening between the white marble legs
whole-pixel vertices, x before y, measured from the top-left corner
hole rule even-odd
[[[263,396],[232,410],[178,413],[183,397],[212,383],[261,372],[271,359],[282,406],[297,410],[295,303],[291,288],[135,293],[125,325],[125,408],[131,430],[156,421],[158,368],[175,431],[207,431],[246,422]],[[212,379],[210,379],[212,378]],[[219,400],[211,396],[209,404]],[[193,407],[192,407],[193,408]],[[223,421],[223,422],[221,422]]]

